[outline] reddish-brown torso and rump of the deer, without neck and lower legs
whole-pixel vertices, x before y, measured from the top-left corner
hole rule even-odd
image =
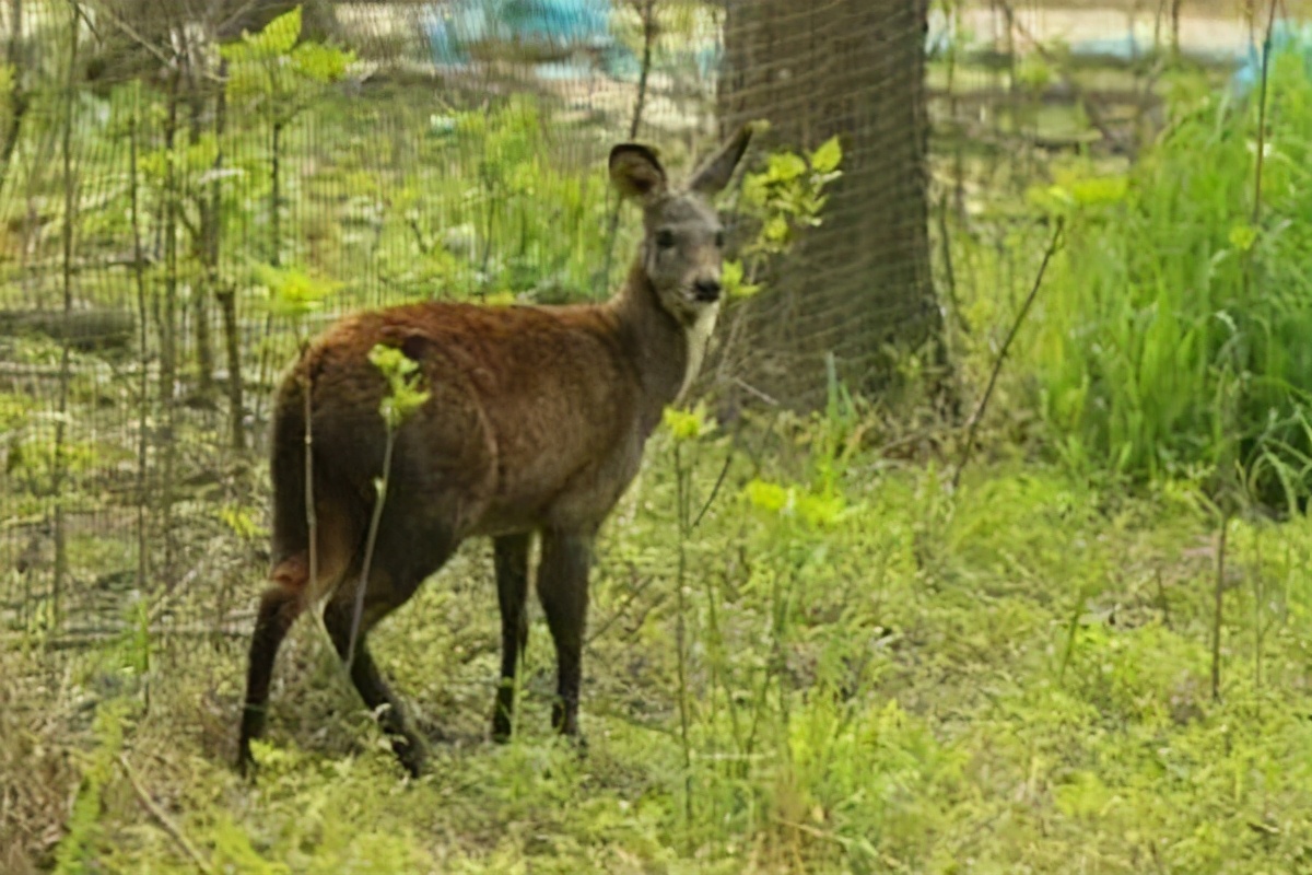
[[[387,442],[379,415],[387,384],[369,361],[377,344],[419,362],[430,394],[395,436],[371,563],[380,575],[424,577],[474,535],[598,526],[655,425],[636,415],[639,382],[606,321],[581,307],[425,303],[338,323],[289,374],[276,405],[274,582],[314,602],[361,572]]]

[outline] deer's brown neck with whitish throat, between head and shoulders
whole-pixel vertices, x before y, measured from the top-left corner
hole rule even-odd
[[[661,306],[642,258],[634,262],[613,303],[655,426],[661,411],[681,400],[697,379],[719,307],[701,310],[691,323],[678,320]]]

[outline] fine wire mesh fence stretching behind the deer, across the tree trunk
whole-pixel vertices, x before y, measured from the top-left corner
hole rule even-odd
[[[823,224],[762,266],[702,380],[806,407],[830,363],[867,391],[893,349],[942,363],[949,228],[1052,155],[1134,160],[1168,59],[1250,87],[1253,21],[1197,3],[8,0],[0,634],[245,628],[269,397],[298,344],[365,306],[605,296],[636,239],[606,185],[617,140],[686,168],[747,119],[771,122],[769,148],[840,136]]]

